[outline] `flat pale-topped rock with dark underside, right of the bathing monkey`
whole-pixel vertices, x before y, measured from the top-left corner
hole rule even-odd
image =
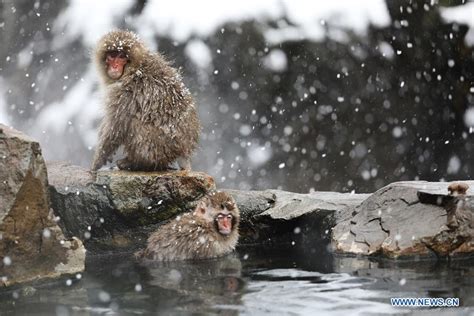
[[[310,243],[325,247],[339,218],[368,194],[226,190],[242,213],[240,244]]]

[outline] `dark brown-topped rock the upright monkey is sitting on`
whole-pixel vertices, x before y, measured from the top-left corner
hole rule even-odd
[[[48,162],[48,170],[60,225],[91,253],[143,247],[160,224],[215,189],[212,177],[202,172],[104,170],[95,181],[87,169],[64,162]]]

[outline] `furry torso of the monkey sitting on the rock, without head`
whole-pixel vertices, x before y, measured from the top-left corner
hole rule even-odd
[[[109,95],[124,106],[115,124],[127,129],[124,150],[133,169],[159,170],[196,149],[201,126],[194,101],[179,73],[159,54],[150,54]],[[111,111],[117,109],[111,109]]]

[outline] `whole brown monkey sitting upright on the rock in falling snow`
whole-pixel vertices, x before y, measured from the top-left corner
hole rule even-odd
[[[95,62],[106,99],[91,169],[98,170],[123,145],[119,169],[166,170],[177,162],[190,170],[201,126],[179,72],[129,31],[106,34]]]

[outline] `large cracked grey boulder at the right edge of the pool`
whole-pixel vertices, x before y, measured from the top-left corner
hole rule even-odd
[[[378,190],[334,227],[336,251],[392,258],[472,253],[473,191],[453,196],[448,185],[408,181]]]

